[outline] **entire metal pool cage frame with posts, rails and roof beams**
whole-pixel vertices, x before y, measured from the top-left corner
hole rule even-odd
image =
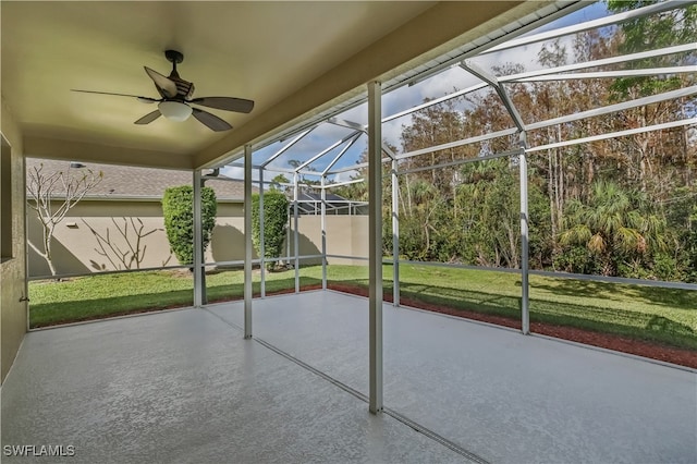
[[[575,11],[579,8],[586,7],[589,3],[587,2],[572,2],[566,4],[564,8],[559,8],[555,11],[550,11],[547,14],[547,17],[542,20],[542,22],[553,21],[564,14],[568,14],[570,11]],[[594,280],[594,281],[608,281],[608,282],[621,282],[621,283],[631,283],[631,284],[641,284],[641,285],[657,285],[664,288],[677,288],[685,290],[697,290],[697,285],[688,284],[683,282],[659,282],[659,281],[647,281],[639,279],[624,279],[624,278],[603,278],[596,276],[585,276],[585,274],[568,274],[568,273],[559,273],[559,272],[547,272],[547,271],[537,271],[530,270],[528,265],[528,155],[548,150],[552,148],[566,147],[572,145],[587,144],[596,141],[602,141],[614,137],[622,137],[633,134],[639,134],[651,131],[661,131],[672,127],[688,127],[695,126],[697,124],[697,117],[685,118],[682,120],[676,120],[667,123],[652,124],[644,127],[635,127],[631,130],[623,130],[616,132],[609,132],[592,136],[587,136],[583,138],[560,141],[555,143],[549,143],[546,145],[539,146],[528,146],[527,144],[527,133],[533,130],[550,127],[558,124],[564,124],[573,121],[579,121],[588,118],[596,118],[600,115],[612,114],[617,111],[623,111],[632,108],[637,108],[646,105],[657,103],[661,101],[673,100],[682,97],[689,97],[697,94],[697,85],[680,88],[676,90],[664,91],[661,94],[657,94],[649,97],[635,98],[628,101],[614,103],[604,106],[601,108],[596,108],[574,114],[566,114],[559,118],[548,119],[545,121],[537,121],[534,123],[525,123],[523,118],[521,117],[518,110],[516,109],[513,100],[511,99],[505,86],[505,83],[529,83],[529,82],[540,82],[540,81],[560,81],[560,80],[579,80],[579,78],[607,78],[607,77],[622,77],[622,76],[658,76],[665,74],[680,74],[680,73],[697,73],[697,66],[695,65],[683,65],[683,66],[671,66],[671,68],[650,68],[643,70],[627,70],[627,71],[591,71],[591,72],[580,72],[582,70],[592,69],[609,64],[622,64],[628,63],[632,61],[643,60],[647,58],[656,58],[659,56],[671,54],[671,53],[682,53],[697,50],[697,44],[686,44],[681,46],[673,47],[664,47],[660,49],[648,50],[644,52],[631,53],[625,56],[612,57],[602,60],[589,61],[584,63],[574,63],[560,65],[554,68],[546,68],[531,72],[524,72],[519,74],[512,74],[505,76],[497,76],[488,71],[479,68],[476,63],[472,62],[469,59],[484,53],[491,53],[494,51],[502,51],[513,47],[518,47],[522,45],[530,45],[536,44],[543,40],[549,40],[562,36],[566,36],[570,34],[576,34],[584,30],[609,26],[613,24],[617,24],[624,21],[636,20],[639,17],[644,17],[650,14],[657,14],[660,12],[669,11],[676,8],[684,8],[685,5],[690,4],[690,2],[682,2],[682,1],[667,1],[663,3],[656,3],[649,7],[643,7],[629,12],[619,13],[614,15],[610,15],[600,20],[588,21],[582,24],[575,24],[562,28],[558,28],[554,30],[545,32],[541,34],[519,37],[523,33],[531,30],[534,27],[538,27],[540,25],[540,17],[537,19],[528,19],[529,22],[525,24],[524,20],[514,26],[516,32],[509,34],[504,34],[498,38],[486,37],[482,38],[482,41],[479,44],[473,44],[468,46],[468,48],[463,48],[455,50],[454,52],[445,56],[439,60],[436,60],[429,63],[426,66],[421,66],[417,70],[413,70],[407,74],[403,74],[400,77],[395,77],[389,82],[370,82],[367,83],[365,89],[360,90],[357,95],[348,98],[343,103],[332,108],[331,110],[325,111],[321,114],[315,115],[310,120],[303,121],[295,126],[290,129],[285,129],[280,133],[270,136],[264,141],[258,141],[254,145],[246,145],[243,151],[235,152],[231,157],[229,157],[230,164],[240,167],[244,169],[244,236],[245,236],[245,259],[244,261],[235,261],[235,262],[223,262],[225,264],[244,264],[244,337],[249,339],[253,337],[253,317],[252,317],[252,304],[253,304],[253,288],[252,288],[252,269],[254,265],[259,265],[260,267],[260,279],[261,279],[261,297],[266,296],[265,291],[265,264],[267,259],[264,258],[264,190],[266,185],[269,185],[270,182],[267,180],[267,172],[278,172],[283,174],[292,175],[292,192],[293,192],[293,200],[291,203],[292,209],[292,218],[291,220],[294,223],[293,227],[293,243],[294,243],[294,256],[285,256],[280,259],[290,260],[293,262],[295,268],[295,292],[301,291],[299,285],[299,264],[302,259],[307,258],[321,258],[322,266],[322,290],[327,290],[327,259],[330,257],[339,257],[331,256],[327,254],[327,230],[326,230],[326,217],[327,217],[327,191],[332,187],[337,187],[340,185],[346,185],[355,182],[368,182],[368,209],[369,209],[369,224],[368,224],[368,237],[369,237],[369,253],[367,257],[368,268],[369,268],[369,341],[370,341],[370,376],[369,376],[369,410],[372,413],[377,413],[382,410],[382,304],[383,304],[383,294],[382,294],[382,265],[383,261],[392,265],[393,269],[393,305],[400,306],[400,264],[404,262],[415,262],[408,260],[401,260],[400,256],[400,222],[399,222],[399,208],[400,208],[400,196],[399,196],[399,176],[407,173],[413,173],[421,170],[432,170],[444,167],[455,167],[468,162],[478,162],[489,159],[497,158],[515,158],[517,160],[517,166],[519,169],[519,195],[521,195],[521,205],[519,205],[519,234],[521,234],[521,268],[519,269],[501,269],[501,268],[482,268],[482,267],[474,267],[474,266],[458,266],[458,265],[444,265],[444,264],[429,264],[429,262],[418,262],[420,265],[433,265],[433,266],[457,266],[463,268],[476,268],[476,269],[488,269],[496,271],[504,271],[504,272],[516,272],[521,274],[522,280],[522,294],[521,294],[521,320],[522,320],[522,333],[529,334],[530,333],[530,325],[529,325],[529,276],[530,274],[541,274],[541,276],[551,276],[558,278],[572,278],[572,279],[582,279],[582,280]],[[539,14],[538,14],[539,16]],[[535,21],[533,21],[535,20]],[[518,38],[511,39],[511,36],[518,36]],[[443,97],[424,102],[418,106],[414,106],[405,111],[400,111],[394,114],[390,114],[388,117],[381,115],[381,97],[382,94],[389,90],[393,90],[398,87],[414,84],[420,82],[425,78],[433,76],[439,72],[447,70],[451,66],[461,66],[463,70],[467,71],[472,75],[478,77],[481,82],[477,85],[470,86],[468,88],[457,90],[445,95]],[[497,131],[492,133],[487,133],[477,136],[470,136],[467,138],[449,142],[445,144],[431,146],[424,149],[414,150],[411,152],[395,154],[382,142],[382,124],[392,121],[394,119],[408,115],[414,113],[415,111],[428,108],[430,106],[435,106],[447,101],[449,99],[453,99],[463,95],[466,95],[472,91],[479,90],[485,87],[492,88],[497,95],[500,97],[503,106],[505,107],[511,121],[512,126],[502,131]],[[368,108],[368,123],[366,125],[345,121],[341,119],[339,115],[346,111],[347,109],[352,109],[367,101]],[[320,124],[333,124],[342,127],[346,127],[351,130],[350,134],[335,141],[326,149],[311,155],[306,161],[299,163],[297,167],[293,169],[284,169],[272,166],[272,162],[278,159],[283,152],[293,147],[308,134],[310,134],[316,127]],[[334,169],[334,166],[340,161],[340,159],[346,154],[346,151],[354,145],[356,142],[363,137],[367,136],[368,139],[368,161],[363,163],[352,164],[346,168]],[[481,142],[490,141],[498,137],[510,137],[512,141],[516,141],[517,145],[514,143],[510,149],[496,152],[487,156],[480,156],[477,158],[467,158],[460,159],[450,162],[442,162],[435,166],[427,166],[421,168],[413,168],[413,169],[402,169],[401,161],[406,160],[408,158],[418,157],[421,155],[431,154],[433,151],[453,148],[469,144],[478,144]],[[264,160],[259,164],[253,164],[253,154],[255,150],[260,148],[265,148],[270,146],[277,142],[283,142],[284,145],[269,156],[266,160]],[[340,148],[341,147],[341,148]],[[340,148],[340,149],[339,149]],[[310,170],[309,167],[319,159],[329,159],[326,158],[330,154],[335,152],[339,149],[338,154],[333,155],[330,159],[329,163],[321,171]],[[240,161],[243,162],[240,162]],[[389,173],[387,175],[383,174],[383,166],[389,164]],[[360,168],[367,168],[367,176],[365,179],[352,179],[345,182],[337,182],[329,183],[328,176],[334,175],[342,172],[348,172]],[[253,179],[253,172],[258,172],[258,180]],[[321,254],[320,255],[311,255],[311,256],[301,256],[298,254],[298,194],[299,194],[299,181],[301,176],[318,176],[319,184],[314,185],[315,188],[320,191],[320,227],[321,227]],[[265,179],[266,178],[266,179]],[[384,178],[389,178],[391,181],[391,216],[392,216],[392,257],[384,260],[382,256],[382,182]],[[210,176],[204,175],[200,170],[194,172],[194,217],[197,219],[194,221],[194,242],[197,244],[195,246],[194,253],[194,305],[195,306],[204,306],[206,304],[206,286],[205,286],[205,269],[207,266],[211,265],[220,265],[204,262],[204,253],[201,246],[201,228],[200,228],[200,217],[201,217],[201,196],[200,188],[203,183],[207,179],[212,179]],[[219,178],[216,178],[219,179]],[[259,252],[260,258],[253,259],[253,245],[252,245],[252,187],[253,184],[256,183],[259,187],[260,193],[260,243],[261,249]],[[289,242],[290,242],[289,236]],[[366,257],[351,257],[353,259],[366,259]]]

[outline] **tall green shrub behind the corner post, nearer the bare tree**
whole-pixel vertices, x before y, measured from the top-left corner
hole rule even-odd
[[[204,249],[210,242],[216,227],[218,203],[211,187],[201,188],[201,217]],[[164,230],[170,249],[182,265],[194,262],[194,187],[182,185],[169,187],[162,197]]]

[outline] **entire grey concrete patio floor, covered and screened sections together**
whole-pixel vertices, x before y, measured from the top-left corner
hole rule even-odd
[[[255,340],[242,302],[28,333],[2,445],[89,463],[697,462],[694,370],[386,304],[374,416],[366,298],[253,307]]]

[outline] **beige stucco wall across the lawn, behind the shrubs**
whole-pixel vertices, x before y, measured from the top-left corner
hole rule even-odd
[[[133,222],[132,222],[133,219]],[[140,224],[142,221],[142,224]],[[327,253],[344,256],[367,256],[368,254],[367,216],[328,216]],[[140,268],[175,266],[179,262],[171,255],[164,233],[162,207],[159,202],[135,200],[83,200],[70,210],[65,219],[58,224],[53,233],[53,262],[59,274],[89,273],[114,270],[125,266],[117,258],[117,253],[90,231],[94,229],[103,239],[118,247],[121,253],[129,251],[129,243],[136,247],[136,230],[148,235],[140,239],[139,249],[143,260]],[[291,254],[295,253],[291,221]],[[301,216],[298,219],[298,249],[301,255],[321,253],[321,222],[319,216]],[[206,262],[221,262],[244,259],[244,216],[239,202],[218,204],[218,217],[210,245],[206,251]],[[108,235],[107,235],[108,233]],[[125,233],[129,237],[123,236]],[[33,209],[28,211],[29,241],[41,247],[41,225]],[[137,248],[136,248],[137,249]],[[283,254],[288,247],[283,247]],[[103,256],[108,253],[111,261]],[[256,258],[256,254],[254,255]],[[302,265],[318,264],[320,259],[303,260]],[[353,260],[330,258],[329,262],[353,264]],[[356,262],[358,264],[358,262]],[[136,266],[133,265],[135,269]],[[29,248],[29,276],[50,276],[46,260]]]

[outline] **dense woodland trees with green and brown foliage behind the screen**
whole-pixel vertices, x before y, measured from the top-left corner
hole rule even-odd
[[[610,0],[610,12],[652,3]],[[697,41],[697,5],[549,40],[537,64],[553,68]],[[627,69],[695,63],[693,53],[663,54]],[[496,75],[524,72],[498,63]],[[505,84],[524,120],[545,121],[619,101],[695,85],[695,74],[596,77]],[[425,100],[426,101],[426,100]],[[629,108],[608,117],[530,130],[529,257],[533,269],[697,282],[697,136],[689,125],[564,146],[560,142],[684,120],[697,114],[694,95]],[[409,152],[513,126],[491,87],[412,113],[402,125]],[[400,160],[400,245],[407,259],[521,266],[519,164],[516,157],[478,160],[517,146],[502,136]],[[472,159],[476,162],[427,169]],[[416,170],[415,169],[421,169]],[[386,182],[388,184],[388,182]],[[389,187],[389,186],[387,186]],[[356,184],[338,192],[365,197]],[[389,198],[389,195],[387,196]],[[362,198],[363,199],[363,198]],[[389,225],[389,208],[384,208]],[[392,237],[384,230],[384,253]]]

